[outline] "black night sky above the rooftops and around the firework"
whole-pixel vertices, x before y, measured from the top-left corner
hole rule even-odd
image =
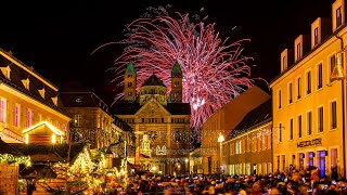
[[[124,38],[126,24],[138,18],[149,6],[171,4],[180,13],[208,15],[220,38],[243,44],[252,77],[271,81],[280,74],[280,54],[293,48],[300,34],[310,34],[319,16],[331,17],[334,0],[99,0],[99,1],[11,1],[1,2],[0,48],[55,83],[59,88],[78,80],[106,103],[114,96],[110,86],[113,61],[121,46],[113,44],[91,52],[99,46]]]

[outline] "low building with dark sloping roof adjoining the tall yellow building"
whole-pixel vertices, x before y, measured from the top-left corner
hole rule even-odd
[[[222,172],[268,174],[272,172],[272,101],[250,110],[222,143]]]

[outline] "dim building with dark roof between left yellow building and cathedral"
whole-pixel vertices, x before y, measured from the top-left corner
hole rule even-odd
[[[85,139],[90,142],[90,148],[93,150],[108,147],[114,142],[128,140],[133,134],[126,122],[115,119],[108,112],[108,105],[95,93],[75,89],[61,91],[60,98],[73,118],[69,134],[72,141]],[[131,143],[128,140],[128,144]]]

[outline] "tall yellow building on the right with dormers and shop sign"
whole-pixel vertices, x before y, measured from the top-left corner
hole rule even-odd
[[[331,20],[318,17],[281,53],[281,75],[270,83],[274,171],[318,167],[322,177],[337,168],[346,177],[345,13],[336,0]]]

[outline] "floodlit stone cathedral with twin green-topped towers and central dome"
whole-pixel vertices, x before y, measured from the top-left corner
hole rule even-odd
[[[140,170],[175,174],[189,170],[192,150],[189,103],[182,103],[182,70],[171,69],[171,91],[155,74],[137,92],[137,70],[128,63],[124,75],[124,101],[115,104],[114,114],[134,131],[136,148],[128,160]]]

